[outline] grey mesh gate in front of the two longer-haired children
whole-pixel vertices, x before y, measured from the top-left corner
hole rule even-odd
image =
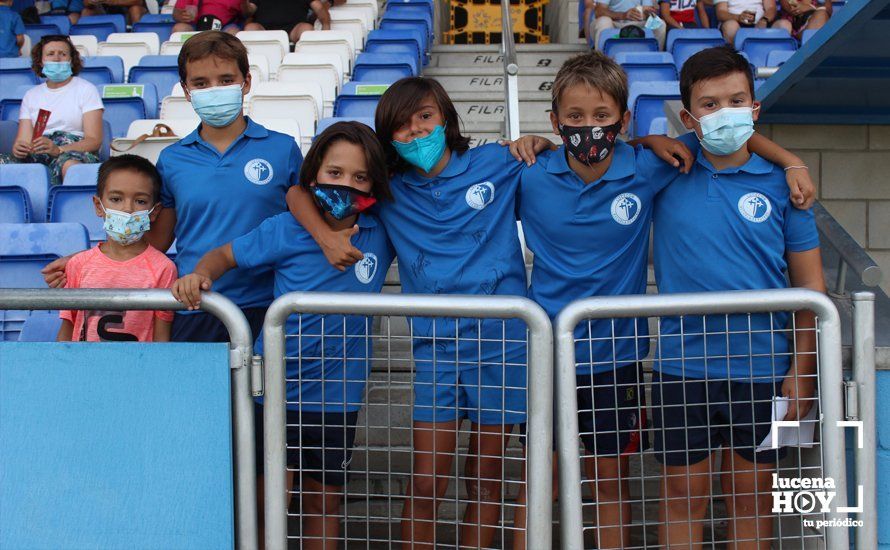
[[[522,323],[520,332],[511,332]],[[291,293],[269,308],[263,331],[266,548],[283,550],[288,542],[389,548],[397,541],[454,547],[458,537],[460,544],[471,546],[522,546],[517,537],[527,537],[528,548],[551,547],[553,340],[550,321],[537,304],[508,296]],[[509,350],[514,348],[527,353],[527,392],[520,379],[525,359],[512,362]],[[425,351],[418,354],[418,349]],[[487,362],[498,350],[501,358]],[[440,366],[452,360],[451,354],[469,355],[454,357],[454,370],[424,371],[424,377],[441,377],[429,383],[436,392],[452,389],[459,399],[508,403],[510,395],[517,395],[511,391],[521,389],[520,406],[527,407],[532,434],[527,461],[516,444],[525,436],[517,436],[519,430],[507,419],[506,411],[518,407],[480,405],[479,423],[498,424],[494,431],[483,427],[470,433],[457,420],[449,429],[439,425],[430,432],[431,424],[418,420],[418,414],[429,411],[420,398],[415,404],[412,394],[431,390],[414,376],[426,367],[415,366],[426,365],[419,358],[428,352],[432,364]],[[287,374],[288,362],[296,364],[298,375]],[[473,386],[465,377],[489,375],[499,381],[479,378],[467,395],[460,393],[467,384]],[[473,419],[472,405],[465,409],[435,395],[436,422],[460,418],[460,409]],[[337,403],[334,411],[319,407],[324,399]],[[500,420],[486,421],[487,412]],[[302,446],[299,441],[289,445],[287,439],[294,438],[301,438]],[[414,443],[427,445],[430,438],[430,453],[416,451]],[[486,446],[492,441],[497,451],[483,451],[492,448]],[[463,459],[478,475],[461,474]],[[426,466],[416,469],[417,464]],[[428,466],[432,473],[421,475]],[[493,474],[483,473],[492,467]],[[288,474],[300,485],[298,491],[288,487]],[[431,496],[424,499],[427,489]],[[522,505],[526,492],[527,508]],[[299,511],[289,513],[292,494],[300,495],[293,499]],[[521,520],[525,510],[527,529]],[[421,517],[427,512],[431,516]],[[463,521],[461,514],[466,514]],[[421,544],[425,537],[429,542]]]

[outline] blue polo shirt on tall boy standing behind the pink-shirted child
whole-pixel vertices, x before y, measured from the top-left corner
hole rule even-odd
[[[247,128],[222,154],[198,131],[167,147],[157,162],[161,202],[176,210],[176,268],[194,271],[201,256],[287,209],[303,155],[290,136],[247,119]],[[272,272],[233,269],[214,290],[241,308],[272,301]],[[177,312],[187,314],[189,312]]]

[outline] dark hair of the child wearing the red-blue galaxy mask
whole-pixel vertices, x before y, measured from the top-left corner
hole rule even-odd
[[[386,157],[383,147],[374,134],[374,130],[367,124],[356,121],[345,121],[331,124],[325,130],[315,136],[312,147],[303,159],[300,167],[300,185],[309,190],[310,185],[318,177],[318,169],[324,162],[324,156],[331,145],[338,141],[346,141],[358,145],[365,151],[365,161],[368,164],[368,178],[371,180],[371,194],[377,200],[392,200],[389,190],[389,174],[386,170]]]

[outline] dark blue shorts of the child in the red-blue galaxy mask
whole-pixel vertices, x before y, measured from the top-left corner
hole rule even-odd
[[[263,406],[255,403],[256,471],[263,475]],[[322,485],[346,485],[355,443],[355,412],[308,412],[287,409],[287,466]]]

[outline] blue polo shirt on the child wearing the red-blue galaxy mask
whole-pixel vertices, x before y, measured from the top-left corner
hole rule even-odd
[[[358,219],[352,244],[364,259],[338,271],[289,212],[273,216],[232,242],[238,266],[245,270],[273,269],[275,297],[296,291],[380,292],[394,252],[383,226],[372,215]],[[344,328],[344,321],[346,326]],[[371,369],[371,317],[291,315],[287,338],[288,408],[315,412],[357,411],[364,402]],[[256,352],[263,352],[257,338]],[[302,407],[300,405],[302,404]]]

